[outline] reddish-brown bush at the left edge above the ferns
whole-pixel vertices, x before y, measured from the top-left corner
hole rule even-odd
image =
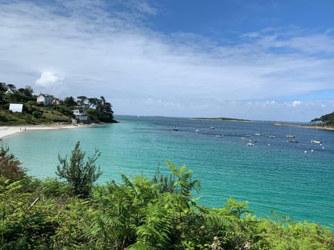
[[[0,149],[0,177],[10,181],[18,181],[26,176],[26,169],[20,166],[21,163],[9,153],[9,147],[1,146]]]

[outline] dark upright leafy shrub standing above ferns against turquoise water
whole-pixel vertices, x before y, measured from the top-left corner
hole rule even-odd
[[[61,165],[57,166],[56,174],[65,178],[72,185],[72,192],[82,198],[89,197],[93,183],[102,174],[100,166],[95,165],[97,158],[100,156],[100,151],[95,149],[93,156],[88,156],[85,163],[86,151],[81,151],[80,142],[75,144],[72,150],[70,161],[67,161],[67,156],[62,158],[58,155],[58,160]]]

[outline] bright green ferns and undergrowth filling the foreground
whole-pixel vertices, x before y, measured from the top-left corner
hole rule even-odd
[[[20,166],[2,152],[9,157],[0,165],[0,249],[334,249],[330,228],[274,213],[259,219],[247,201],[198,206],[200,181],[185,165],[166,161],[170,173],[158,168],[153,178],[122,174],[121,183],[91,185],[84,198],[73,195],[72,181],[3,174]],[[71,164],[81,166],[82,154],[77,143]]]

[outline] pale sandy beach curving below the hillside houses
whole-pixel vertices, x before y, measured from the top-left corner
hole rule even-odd
[[[0,139],[6,138],[16,133],[24,133],[26,131],[36,131],[45,129],[61,129],[61,128],[81,128],[88,125],[72,125],[72,124],[50,124],[50,125],[22,125],[22,126],[0,126]]]

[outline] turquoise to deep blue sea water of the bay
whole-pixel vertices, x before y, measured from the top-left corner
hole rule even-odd
[[[80,141],[88,156],[95,148],[101,152],[99,183],[120,182],[120,173],[152,177],[158,166],[168,173],[168,159],[178,167],[186,164],[193,178],[200,179],[201,190],[194,197],[201,197],[198,203],[204,206],[219,208],[233,197],[249,201],[257,217],[274,210],[294,220],[334,224],[334,131],[290,131],[274,122],[116,119],[119,124],[26,131],[2,143],[38,178],[55,177],[58,154],[70,156]],[[289,142],[289,133],[299,143]],[[316,137],[323,144],[310,142]]]

